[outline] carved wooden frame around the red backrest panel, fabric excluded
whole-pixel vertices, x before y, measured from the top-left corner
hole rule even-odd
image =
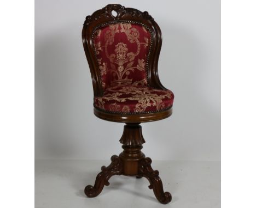
[[[112,15],[112,11],[117,12],[117,16]],[[162,45],[162,34],[158,24],[147,11],[139,11],[133,8],[125,8],[120,4],[108,4],[103,9],[95,11],[90,16],[86,17],[82,31],[82,39],[86,58],[88,60],[91,71],[92,85],[95,96],[102,96],[103,89],[98,70],[97,59],[92,41],[93,30],[103,23],[118,23],[122,21],[135,21],[146,25],[153,35],[152,52],[149,54],[148,62],[148,81],[149,86],[158,89],[166,89],[160,82],[158,76],[158,59]]]

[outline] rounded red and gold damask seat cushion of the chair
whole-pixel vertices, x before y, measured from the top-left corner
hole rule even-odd
[[[94,97],[94,106],[110,113],[152,113],[170,108],[173,99],[170,90],[128,85],[107,88],[102,97]]]

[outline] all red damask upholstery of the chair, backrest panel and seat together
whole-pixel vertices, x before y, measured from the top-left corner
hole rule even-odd
[[[97,109],[112,113],[149,113],[168,109],[170,90],[148,86],[147,60],[150,32],[138,24],[116,23],[99,27],[94,50],[104,94],[94,97]]]

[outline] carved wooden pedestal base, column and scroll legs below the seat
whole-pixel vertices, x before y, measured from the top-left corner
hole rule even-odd
[[[126,124],[120,143],[123,144],[124,151],[119,156],[112,156],[112,162],[108,167],[103,166],[101,168],[102,172],[97,175],[94,186],[85,187],[85,194],[88,197],[96,197],[101,193],[104,185],[109,185],[108,180],[113,175],[136,176],[136,178],[145,177],[148,179],[149,188],[153,189],[155,197],[160,203],[169,203],[172,199],[171,194],[164,192],[158,170],[152,169],[152,160],[145,157],[141,151],[142,144],[145,143],[141,125],[138,123]]]

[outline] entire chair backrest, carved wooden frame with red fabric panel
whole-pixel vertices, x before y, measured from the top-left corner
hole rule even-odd
[[[147,11],[109,4],[86,17],[82,38],[95,96],[116,85],[165,89],[158,77],[161,30]]]

